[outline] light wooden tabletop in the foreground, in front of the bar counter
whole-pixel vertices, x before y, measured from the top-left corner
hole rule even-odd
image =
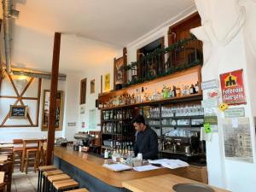
[[[133,192],[175,192],[172,187],[177,183],[198,183],[184,177],[172,174],[140,178],[123,182],[123,187]],[[202,184],[202,183],[201,183]],[[229,192],[210,186],[215,192]]]

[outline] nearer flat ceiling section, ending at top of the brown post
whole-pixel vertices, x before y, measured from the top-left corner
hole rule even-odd
[[[16,25],[71,32],[124,46],[194,4],[193,0],[14,0]]]

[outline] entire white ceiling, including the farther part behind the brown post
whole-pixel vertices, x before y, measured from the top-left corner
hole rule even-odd
[[[125,45],[194,6],[194,0],[13,2],[20,11],[12,32],[13,67],[49,72],[53,35],[61,32],[61,73],[113,63]],[[2,11],[0,8],[0,17]],[[0,45],[4,62],[3,38]]]

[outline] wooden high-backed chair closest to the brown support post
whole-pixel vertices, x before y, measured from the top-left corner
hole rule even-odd
[[[40,154],[40,141],[38,139],[23,139],[23,152],[21,159],[21,172],[24,168],[28,170],[28,166],[34,167],[34,172],[38,169],[38,160]]]

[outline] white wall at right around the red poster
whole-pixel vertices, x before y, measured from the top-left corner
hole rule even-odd
[[[203,27],[193,31],[204,42],[205,61],[202,68],[202,80],[219,79],[221,73],[228,73],[241,68],[244,70],[247,104],[239,107],[245,108],[245,116],[250,120],[253,148],[253,163],[225,159],[224,127],[222,125],[224,113],[218,112],[218,133],[214,133],[212,141],[207,142],[209,183],[234,192],[253,192],[256,191],[255,126],[253,123],[255,116],[253,98],[256,96],[254,89],[256,60],[250,46],[252,42],[248,42],[247,38],[248,34],[255,33],[255,30],[250,32],[247,30],[253,29],[253,27],[248,27],[252,21],[253,23],[256,22],[255,14],[253,14],[256,3],[250,0],[241,1],[240,3],[246,5],[246,9],[243,9],[236,0],[197,0],[195,2],[203,23]],[[222,6],[219,6],[220,4]],[[243,10],[246,11],[245,15]],[[243,16],[246,16],[244,24]],[[240,22],[236,22],[237,18],[240,18]],[[241,26],[241,30],[239,26]],[[251,40],[253,41],[253,38]]]

